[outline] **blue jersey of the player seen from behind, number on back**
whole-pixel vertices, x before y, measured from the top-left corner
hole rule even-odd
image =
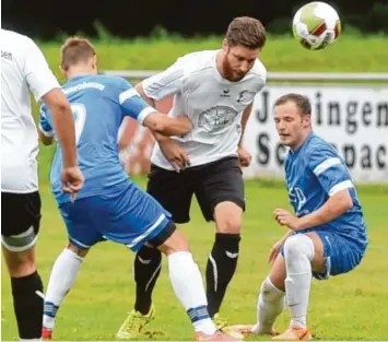
[[[104,194],[128,181],[119,154],[117,135],[124,117],[130,116],[141,123],[155,111],[122,78],[94,74],[70,79],[63,86],[74,116],[77,150],[80,168],[85,177],[78,198]],[[55,134],[52,118],[46,107],[40,108],[39,128],[47,137]],[[62,192],[61,149],[57,143],[50,181],[58,203],[70,201]]]

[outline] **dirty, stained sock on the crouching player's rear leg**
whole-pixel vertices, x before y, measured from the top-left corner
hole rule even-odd
[[[268,276],[261,284],[257,300],[257,323],[252,331],[259,334],[270,332],[283,308],[284,292],[274,286]]]

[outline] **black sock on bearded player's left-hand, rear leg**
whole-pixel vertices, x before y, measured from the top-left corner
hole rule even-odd
[[[137,298],[134,309],[142,315],[150,311],[152,292],[161,274],[162,253],[157,248],[143,246],[134,258],[134,281]]]

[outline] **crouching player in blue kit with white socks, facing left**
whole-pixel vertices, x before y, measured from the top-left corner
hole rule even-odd
[[[272,334],[273,340],[310,338],[306,316],[311,276],[328,279],[353,270],[363,259],[368,238],[349,169],[338,152],[311,130],[307,97],[287,94],[274,106],[285,160],[286,188],[295,214],[275,209],[274,220],[289,228],[269,255],[273,263],[262,282],[255,326],[234,326],[243,333]],[[291,322],[275,335],[273,323],[286,298]],[[232,327],[231,327],[232,328]]]

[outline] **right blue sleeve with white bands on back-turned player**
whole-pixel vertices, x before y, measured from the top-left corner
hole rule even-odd
[[[156,111],[156,109],[151,107],[125,79],[117,82],[116,94],[122,114],[138,120],[141,125],[144,122],[148,115]]]

